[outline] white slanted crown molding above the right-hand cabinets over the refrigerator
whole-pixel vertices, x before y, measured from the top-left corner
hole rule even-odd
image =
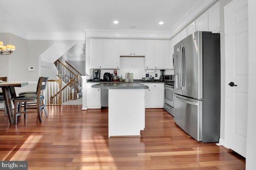
[[[188,24],[194,21],[198,16],[208,10],[212,5],[214,5],[219,0],[201,0],[191,8],[184,17],[170,29],[170,38],[174,37],[182,29],[184,29]]]

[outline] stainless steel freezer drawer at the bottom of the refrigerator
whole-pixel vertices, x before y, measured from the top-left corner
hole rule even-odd
[[[202,100],[174,95],[175,123],[197,141],[202,141]]]

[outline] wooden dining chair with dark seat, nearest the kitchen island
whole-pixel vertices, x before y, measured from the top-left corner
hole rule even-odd
[[[14,124],[17,124],[17,117],[20,114],[24,114],[26,118],[27,113],[35,113],[35,111],[28,111],[28,109],[36,109],[38,114],[38,119],[42,122],[41,119],[41,110],[44,109],[46,117],[48,117],[46,106],[42,101],[44,100],[44,95],[41,95],[40,91],[46,89],[48,77],[40,77],[38,83],[38,89],[36,94],[24,94],[14,98]],[[28,102],[36,102],[36,104],[28,105]],[[24,109],[22,111],[22,103],[24,103]]]

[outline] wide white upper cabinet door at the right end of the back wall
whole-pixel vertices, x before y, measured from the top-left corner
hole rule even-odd
[[[156,40],[154,42],[154,68],[169,68],[169,41]]]

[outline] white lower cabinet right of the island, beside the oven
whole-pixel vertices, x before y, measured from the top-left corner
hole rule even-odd
[[[145,108],[164,107],[164,83],[142,83],[148,86],[145,90]]]

